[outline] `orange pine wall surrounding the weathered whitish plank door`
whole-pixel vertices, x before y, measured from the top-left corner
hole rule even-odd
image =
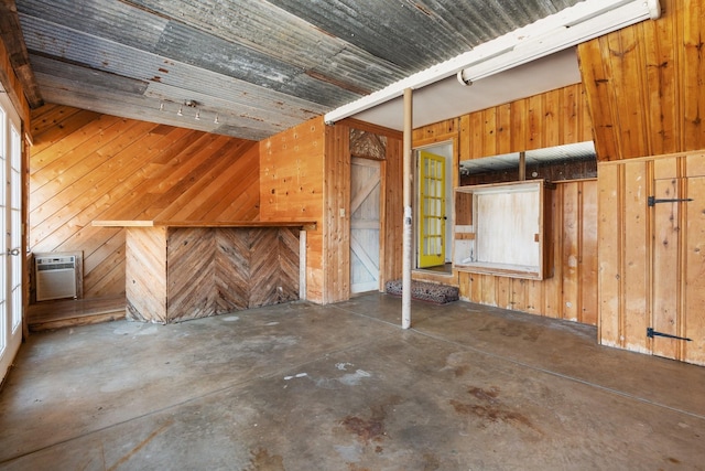
[[[350,128],[356,126],[366,127],[326,126],[321,117],[260,142],[260,218],[317,223],[306,234],[306,299],[314,302],[350,297]],[[382,182],[383,279],[401,276],[401,137],[391,136]]]

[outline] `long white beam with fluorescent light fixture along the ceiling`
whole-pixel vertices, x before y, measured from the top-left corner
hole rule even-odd
[[[339,121],[455,74],[467,85],[660,15],[659,0],[585,0],[336,108],[324,120]]]

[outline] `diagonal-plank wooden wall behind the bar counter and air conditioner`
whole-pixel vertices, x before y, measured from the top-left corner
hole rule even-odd
[[[29,244],[84,254],[84,298],[124,293],[124,231],[94,220],[254,221],[257,142],[45,105],[32,114]]]

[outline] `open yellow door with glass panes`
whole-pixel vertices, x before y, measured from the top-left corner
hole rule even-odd
[[[445,159],[421,151],[419,168],[419,268],[435,267],[445,263]]]

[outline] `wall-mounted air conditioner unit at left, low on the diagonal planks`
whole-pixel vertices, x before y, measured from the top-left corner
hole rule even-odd
[[[76,298],[76,256],[34,258],[36,300]]]

